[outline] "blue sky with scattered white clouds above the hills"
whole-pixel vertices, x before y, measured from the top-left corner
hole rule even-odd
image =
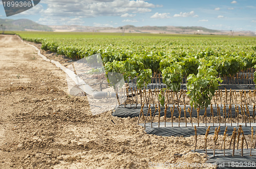
[[[256,0],[41,0],[10,17],[0,3],[0,18],[26,18],[46,25],[204,26],[256,32]]]

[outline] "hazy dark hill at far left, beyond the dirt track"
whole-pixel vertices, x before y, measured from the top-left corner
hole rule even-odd
[[[5,31],[53,31],[51,27],[29,19],[0,19],[0,25],[5,27]]]

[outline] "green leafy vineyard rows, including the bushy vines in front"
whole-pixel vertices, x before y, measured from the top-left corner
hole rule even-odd
[[[17,34],[24,40],[41,43],[44,50],[71,59],[100,53],[107,74],[120,72],[127,81],[136,78],[139,89],[152,82],[153,74],[160,73],[167,89],[177,95],[183,78],[186,78],[190,105],[195,107],[207,107],[219,83],[223,79],[227,83],[228,78],[229,83],[235,78],[239,80],[240,71],[243,72],[242,78],[252,81],[248,73],[254,71],[251,68],[256,65],[256,37],[52,32]]]

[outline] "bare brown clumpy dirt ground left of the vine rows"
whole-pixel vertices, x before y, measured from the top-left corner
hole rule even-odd
[[[91,116],[84,97],[66,93],[65,73],[16,36],[0,35],[0,72],[0,168],[147,168],[148,162],[205,161],[190,152],[194,137],[148,135],[137,118],[111,112]],[[198,145],[203,148],[203,142]]]

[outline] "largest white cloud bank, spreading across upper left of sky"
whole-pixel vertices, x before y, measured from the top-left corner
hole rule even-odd
[[[137,13],[151,12],[157,5],[148,3],[145,0],[41,0],[47,4],[47,8],[41,12],[41,19],[48,20],[54,25],[61,24],[60,18],[90,18],[97,16],[135,16]],[[45,21],[44,21],[45,23]]]

